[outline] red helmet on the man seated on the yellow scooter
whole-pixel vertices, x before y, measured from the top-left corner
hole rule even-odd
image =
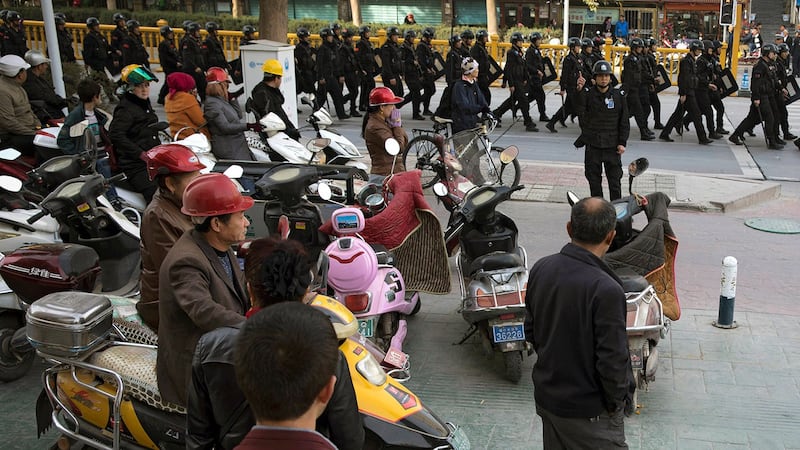
[[[186,186],[181,212],[194,217],[221,216],[245,211],[253,203],[252,198],[239,192],[230,178],[221,173],[208,173]]]

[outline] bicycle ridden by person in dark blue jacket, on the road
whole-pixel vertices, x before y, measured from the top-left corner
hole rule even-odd
[[[493,146],[489,139],[489,135],[497,127],[497,119],[486,115],[480,126],[455,135],[452,134],[452,120],[437,117],[434,121],[433,130],[412,130],[414,138],[403,153],[403,164],[407,169],[422,171],[423,189],[447,177],[445,153],[455,156],[461,162],[458,171],[476,185],[519,184],[519,162],[514,159],[509,164],[502,164],[500,153],[504,149]]]

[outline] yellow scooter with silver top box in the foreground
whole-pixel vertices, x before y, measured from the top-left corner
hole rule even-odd
[[[443,422],[387,376],[360,343],[352,313],[329,297],[317,296],[311,304],[331,318],[340,339],[366,429],[365,448],[470,448],[463,430]],[[141,328],[117,320],[112,324],[111,310],[104,296],[68,292],[31,306],[28,338],[52,364],[36,404],[39,435],[54,425],[66,445],[185,448],[186,411],[161,400],[156,346],[126,342]]]

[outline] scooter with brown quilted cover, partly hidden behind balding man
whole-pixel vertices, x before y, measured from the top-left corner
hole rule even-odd
[[[631,366],[636,382],[633,404],[638,407],[639,390],[647,389],[658,370],[658,349],[666,337],[670,319],[680,318],[680,302],[675,290],[675,255],[678,240],[669,225],[670,200],[655,192],[647,196],[633,193],[633,179],[648,168],[639,158],[628,167],[627,197],[614,200],[617,211],[617,234],[604,260],[622,280],[627,300],[626,326]],[[578,196],[567,193],[570,205]],[[648,223],[641,230],[633,228],[633,217],[644,212]]]

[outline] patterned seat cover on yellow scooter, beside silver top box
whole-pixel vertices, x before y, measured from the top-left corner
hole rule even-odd
[[[157,350],[130,345],[114,345],[94,353],[90,363],[114,371],[122,377],[125,393],[134,399],[162,411],[186,414],[186,408],[161,398],[156,379]],[[101,377],[114,383],[112,378]]]

